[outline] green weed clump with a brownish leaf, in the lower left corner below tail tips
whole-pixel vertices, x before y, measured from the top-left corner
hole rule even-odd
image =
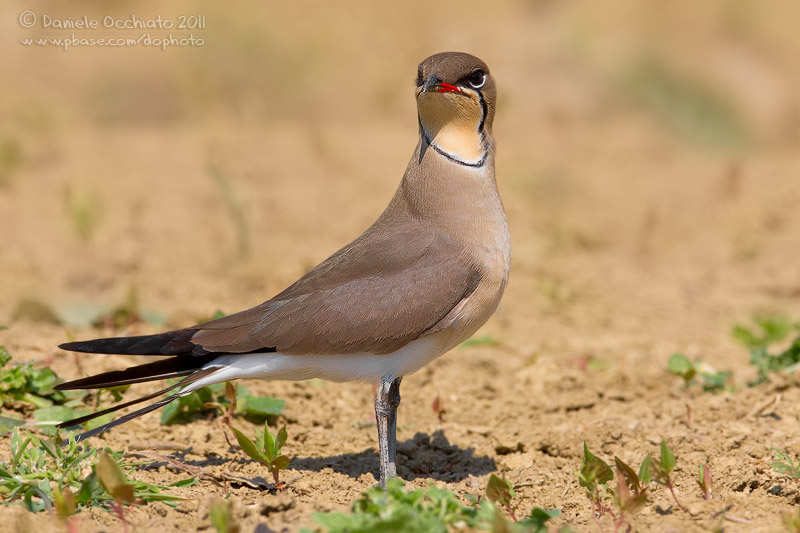
[[[21,504],[29,511],[51,509],[59,512],[91,506],[113,507],[130,502],[180,500],[161,492],[169,487],[189,486],[195,478],[183,479],[167,486],[144,481],[128,482],[122,473],[122,452],[87,449],[70,438],[59,445],[61,438],[40,438],[15,428],[11,433],[10,462],[0,461],[0,497],[2,504]],[[86,470],[90,473],[86,475]],[[118,470],[118,473],[115,473]],[[123,487],[122,485],[127,486]],[[132,491],[132,496],[131,496]],[[70,496],[70,494],[72,496]],[[74,500],[74,505],[72,503]]]

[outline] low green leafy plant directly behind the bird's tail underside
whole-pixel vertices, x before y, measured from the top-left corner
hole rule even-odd
[[[168,381],[170,383],[170,381]],[[175,383],[172,381],[171,383]],[[269,396],[254,396],[243,385],[235,387],[235,401],[231,401],[230,389],[223,383],[202,387],[167,404],[161,412],[161,423],[178,424],[202,415],[243,416],[261,422],[281,414],[286,402]]]

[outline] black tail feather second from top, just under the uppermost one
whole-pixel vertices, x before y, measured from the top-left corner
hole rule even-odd
[[[213,355],[201,357],[171,357],[132,366],[125,370],[112,370],[86,378],[68,381],[55,386],[57,390],[99,389],[102,387],[118,387],[131,383],[142,383],[159,379],[178,378],[191,375],[206,363],[214,360]]]

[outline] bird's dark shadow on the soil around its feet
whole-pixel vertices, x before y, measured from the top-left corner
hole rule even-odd
[[[312,472],[330,468],[352,478],[363,474],[372,474],[376,480],[379,477],[378,454],[372,449],[331,457],[295,457],[291,467]],[[429,478],[456,482],[496,470],[494,459],[487,455],[476,456],[474,448],[451,444],[441,430],[432,436],[417,433],[414,438],[397,444],[397,473],[405,480]]]

